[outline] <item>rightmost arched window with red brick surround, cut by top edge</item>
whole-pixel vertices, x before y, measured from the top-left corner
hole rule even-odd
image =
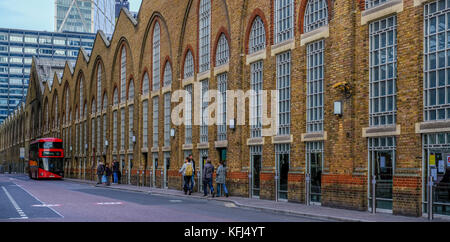
[[[326,0],[309,0],[305,10],[304,33],[328,25],[328,4]]]

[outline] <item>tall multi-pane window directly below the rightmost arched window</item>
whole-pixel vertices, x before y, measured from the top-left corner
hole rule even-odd
[[[324,41],[319,40],[306,47],[307,53],[307,132],[323,131],[324,103]]]

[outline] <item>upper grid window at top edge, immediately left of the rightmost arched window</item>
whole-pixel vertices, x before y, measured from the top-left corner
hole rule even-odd
[[[294,1],[275,0],[275,43],[294,37]]]

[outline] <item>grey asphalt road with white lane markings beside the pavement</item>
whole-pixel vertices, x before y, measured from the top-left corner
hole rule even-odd
[[[0,174],[0,222],[320,222],[232,203]]]

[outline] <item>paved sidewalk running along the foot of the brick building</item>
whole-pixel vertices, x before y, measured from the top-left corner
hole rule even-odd
[[[79,180],[79,179],[69,179],[65,178],[65,181],[77,182],[77,183],[86,183],[90,185],[96,186],[96,181],[88,181],[88,180]],[[138,187],[133,185],[111,185],[109,187],[105,185],[98,185],[96,187],[104,187],[109,189],[119,189],[119,190],[127,190],[134,192],[143,192],[149,193],[153,195],[167,195],[167,196],[180,196],[180,197],[188,197],[184,195],[184,192],[180,190],[172,190],[172,189],[160,189],[160,188],[150,188],[150,187]],[[212,197],[203,197],[201,193],[192,193],[191,198],[196,199],[208,199],[208,200],[216,200],[234,203],[237,207],[242,208],[250,208],[261,211],[269,211],[275,213],[282,213],[287,215],[297,215],[311,218],[322,218],[322,219],[331,219],[343,222],[428,222],[426,217],[406,217],[406,216],[398,216],[392,215],[389,213],[377,213],[372,214],[370,212],[361,212],[355,210],[348,209],[337,209],[337,208],[329,208],[322,206],[306,206],[304,204],[299,203],[291,203],[291,202],[275,202],[272,200],[261,200],[261,199],[251,199],[244,197],[228,197],[228,198],[212,198]],[[434,222],[450,222],[450,217],[437,217],[435,216]]]

